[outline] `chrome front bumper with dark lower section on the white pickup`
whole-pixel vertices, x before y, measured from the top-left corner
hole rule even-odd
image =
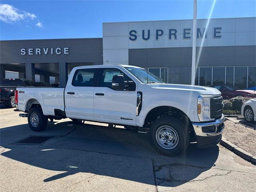
[[[194,122],[192,123],[196,134],[197,146],[199,148],[218,144],[222,137],[225,127],[225,116],[222,114],[220,119],[214,122]]]

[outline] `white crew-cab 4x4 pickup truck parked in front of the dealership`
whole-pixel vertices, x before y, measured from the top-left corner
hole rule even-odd
[[[184,152],[220,142],[224,128],[221,93],[210,87],[166,84],[136,66],[99,65],[72,69],[66,88],[19,87],[16,111],[34,131],[48,119],[70,118],[123,125],[149,133],[161,154]]]

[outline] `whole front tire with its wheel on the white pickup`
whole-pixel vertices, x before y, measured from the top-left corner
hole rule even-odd
[[[167,141],[171,141],[164,143],[164,137],[162,137],[163,135],[164,137],[167,137],[165,138]],[[159,118],[153,122],[150,128],[150,140],[154,148],[160,152],[160,154],[166,156],[176,156],[177,154],[185,152],[186,148],[188,147],[188,128],[185,126],[185,124],[176,118]],[[161,141],[162,144],[160,144]]]

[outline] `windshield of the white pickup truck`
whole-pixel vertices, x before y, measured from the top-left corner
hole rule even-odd
[[[165,83],[160,78],[146,71],[145,69],[136,67],[125,67],[125,69],[133,74],[142,83]]]

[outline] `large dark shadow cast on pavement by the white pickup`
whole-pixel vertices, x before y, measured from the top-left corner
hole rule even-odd
[[[166,181],[172,182],[177,178],[179,182],[174,182],[172,186],[178,186],[209,170],[214,166],[219,155],[217,145],[197,149],[195,144],[190,144],[185,154],[176,157],[160,157],[160,154],[152,148],[147,134],[73,126],[72,122],[49,124],[46,129],[47,135],[53,133],[54,129],[61,130],[67,126],[72,126],[73,130],[68,134],[55,135],[39,147],[4,142],[8,144],[4,147],[10,150],[3,152],[1,156],[38,168],[62,172],[46,176],[44,182],[85,172],[151,185],[160,182],[162,186],[170,186],[162,181],[162,176],[159,176],[162,174],[168,176],[170,173],[172,175],[168,176]],[[21,127],[2,128],[1,140],[10,137],[10,133],[15,134],[15,131]],[[29,129],[27,124],[23,127]],[[30,133],[32,134],[34,132]],[[34,135],[44,135],[44,132]],[[165,168],[168,169],[168,174],[161,173]]]

